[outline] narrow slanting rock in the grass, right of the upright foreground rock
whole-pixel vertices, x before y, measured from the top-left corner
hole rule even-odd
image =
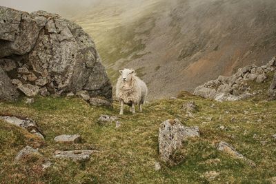
[[[234,156],[237,159],[242,159],[252,167],[256,166],[255,162],[251,161],[250,159],[247,159],[244,155],[237,152],[232,145],[229,145],[224,141],[219,142],[219,144],[217,145],[217,149],[221,152],[225,152],[226,154],[229,154],[230,156]]]

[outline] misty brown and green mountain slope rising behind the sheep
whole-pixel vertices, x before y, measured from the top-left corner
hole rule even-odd
[[[156,99],[266,63],[276,54],[275,9],[273,0],[115,1],[72,20],[95,39],[113,83],[134,68]]]

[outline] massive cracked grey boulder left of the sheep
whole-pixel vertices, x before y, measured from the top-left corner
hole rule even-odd
[[[89,97],[112,101],[95,43],[79,25],[57,14],[0,6],[0,48],[0,67],[8,74],[0,68],[1,90],[10,91],[0,90],[0,100],[18,96],[12,80],[26,96],[86,91]]]

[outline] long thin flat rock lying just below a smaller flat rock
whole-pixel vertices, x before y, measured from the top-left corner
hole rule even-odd
[[[95,150],[70,150],[70,151],[55,151],[54,158],[57,159],[72,159],[73,161],[89,161],[90,155],[94,152],[98,152]]]

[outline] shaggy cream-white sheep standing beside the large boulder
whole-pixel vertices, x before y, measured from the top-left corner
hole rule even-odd
[[[142,104],[148,94],[146,83],[139,79],[135,70],[125,68],[119,70],[119,76],[116,85],[116,97],[121,104],[120,115],[124,114],[124,104],[130,106],[130,112],[135,114],[135,105],[139,105],[139,111],[142,112]]]

